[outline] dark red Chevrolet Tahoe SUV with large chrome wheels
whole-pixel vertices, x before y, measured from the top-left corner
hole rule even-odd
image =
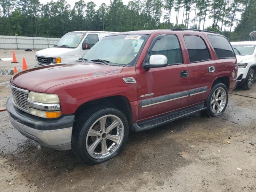
[[[27,138],[96,164],[121,152],[129,130],[196,112],[222,114],[236,74],[236,56],[220,34],[124,32],[104,37],[76,62],[14,75],[6,108]]]

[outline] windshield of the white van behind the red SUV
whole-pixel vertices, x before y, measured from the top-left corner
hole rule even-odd
[[[81,32],[70,32],[66,33],[54,47],[62,48],[76,48],[82,39],[84,38],[85,33]]]

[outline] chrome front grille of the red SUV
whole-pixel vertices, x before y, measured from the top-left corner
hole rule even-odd
[[[28,112],[28,91],[11,86],[14,106]]]

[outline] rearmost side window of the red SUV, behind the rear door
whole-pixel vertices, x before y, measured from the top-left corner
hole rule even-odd
[[[218,56],[218,58],[234,58],[233,49],[225,37],[218,35],[208,35],[208,38]]]

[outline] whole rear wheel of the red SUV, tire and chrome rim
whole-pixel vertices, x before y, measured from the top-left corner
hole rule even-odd
[[[207,116],[218,116],[224,113],[228,104],[228,90],[222,83],[212,87],[205,102],[206,110],[201,113]]]

